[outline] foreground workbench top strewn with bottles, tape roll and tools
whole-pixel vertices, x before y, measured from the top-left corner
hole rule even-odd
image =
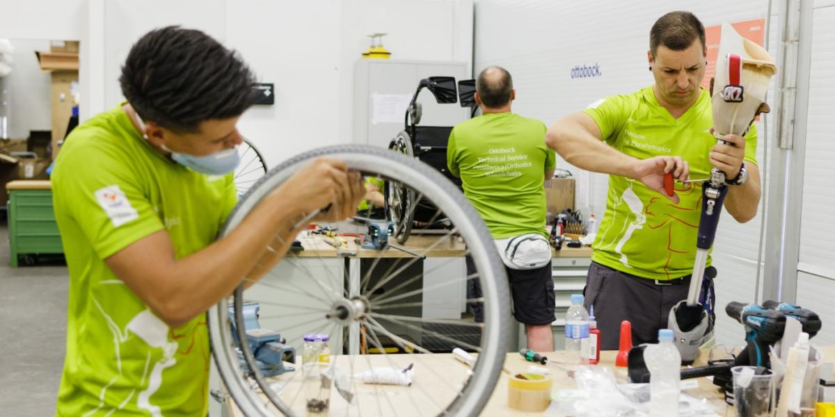
[[[833,347],[824,347],[822,348],[822,350],[824,354],[824,359],[832,358],[832,355],[835,354],[835,348]],[[562,352],[554,352],[545,355],[548,356],[548,358],[551,360],[559,361],[561,359],[562,354]],[[597,366],[607,366],[611,369],[615,369],[615,354],[615,351],[600,352],[600,364],[598,364]],[[703,351],[699,359],[697,359],[695,365],[701,366],[705,364],[707,356],[708,353],[706,351]],[[352,362],[352,359],[355,373],[362,372],[362,370],[368,369],[369,362],[372,364],[372,366],[392,366],[388,362],[386,357],[378,354],[357,355],[353,358],[349,355],[342,355],[335,358],[338,366],[346,367],[346,372],[348,369],[347,367],[349,367]],[[366,359],[368,359],[368,361]],[[426,400],[426,395],[433,395],[434,398],[437,399],[439,404],[448,404],[449,398],[451,398],[452,395],[452,393],[450,392],[451,389],[448,388],[450,382],[443,380],[443,377],[448,376],[451,379],[453,379],[454,382],[458,382],[459,378],[463,379],[463,373],[467,370],[467,367],[462,362],[459,362],[457,359],[454,359],[452,354],[390,354],[388,355],[388,359],[392,359],[392,363],[395,366],[405,367],[410,363],[414,363],[415,374],[414,378],[412,379],[412,386],[402,387],[392,385],[362,384],[357,382],[356,394],[359,400],[358,404],[365,404],[362,405],[362,415],[398,415],[397,412],[392,409],[391,404],[402,404],[403,410],[399,410],[400,414],[403,414],[404,412],[407,413],[404,415],[415,414],[412,412],[412,410],[414,404],[417,404],[418,406],[426,406],[426,409],[418,410],[418,414],[435,415],[437,414],[437,410],[433,408],[434,404]],[[297,361],[298,364],[301,364],[300,360]],[[831,361],[831,359],[829,359],[829,361]],[[531,363],[522,359],[522,357],[519,356],[518,353],[509,353],[507,354],[504,360],[504,366],[505,368],[509,369],[510,374],[523,373],[526,371],[526,369],[528,369],[530,365]],[[435,372],[433,372],[432,369],[435,369]],[[443,369],[443,372],[438,372],[437,369]],[[617,372],[618,371],[615,370],[615,373]],[[458,375],[458,373],[460,373],[460,375]],[[554,369],[553,371],[551,371],[551,376],[554,378],[554,388],[552,389],[552,393],[558,389],[574,389],[574,380],[569,379],[567,376],[565,376],[564,373],[560,373],[559,369]],[[500,374],[498,383],[496,384],[495,389],[493,389],[493,393],[490,395],[490,399],[488,401],[488,404],[484,407],[482,415],[490,417],[512,417],[523,415],[546,414],[546,412],[524,413],[521,411],[510,409],[508,407],[508,379],[508,374]],[[284,389],[291,389],[291,391],[288,391],[290,393],[295,393],[295,390],[299,389],[301,386],[301,374],[299,373],[299,371],[296,371],[292,374],[284,374],[271,380],[275,380],[276,382],[286,384]],[[725,415],[726,409],[731,408],[725,404],[723,394],[721,394],[716,389],[716,386],[711,382],[710,379],[697,378],[687,380],[695,380],[698,384],[698,388],[687,389],[684,392],[696,398],[707,399],[708,402],[716,410],[716,415]],[[409,400],[409,394],[412,394],[413,398],[415,399],[414,402]],[[382,395],[387,395],[387,397],[390,400],[384,399]],[[301,396],[303,396],[303,394],[301,394],[300,397]],[[237,409],[233,399],[227,399],[227,407],[231,416],[242,416],[242,414],[240,414],[240,411]],[[346,407],[347,404],[342,399],[342,397],[340,397],[339,394],[337,394],[336,389],[331,389],[330,414],[348,415],[346,412]],[[355,413],[352,413],[351,415],[357,414],[356,407],[357,403],[355,403],[352,407]],[[296,410],[296,413],[298,415],[306,414],[303,408],[303,399],[299,399],[296,401],[296,404],[293,404],[293,409]]]

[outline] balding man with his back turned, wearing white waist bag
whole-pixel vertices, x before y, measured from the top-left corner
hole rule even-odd
[[[447,165],[461,177],[464,194],[493,234],[510,279],[514,316],[525,324],[528,347],[550,352],[554,281],[543,184],[554,176],[556,155],[545,147],[542,122],[510,112],[515,96],[513,78],[504,68],[488,67],[478,74],[475,101],[482,114],[453,128]],[[467,275],[474,273],[468,258]],[[480,298],[478,280],[467,283],[467,298]],[[482,304],[470,306],[476,321],[483,321]]]

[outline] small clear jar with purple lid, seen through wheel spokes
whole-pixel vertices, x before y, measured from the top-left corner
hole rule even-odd
[[[306,408],[309,413],[326,413],[331,405],[331,379],[325,370],[331,366],[331,349],[327,334],[305,334],[301,353],[301,374],[304,378]]]

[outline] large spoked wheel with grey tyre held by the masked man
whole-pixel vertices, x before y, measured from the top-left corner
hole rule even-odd
[[[324,332],[331,336],[331,363],[348,376],[348,390],[354,395],[349,402],[331,390],[331,414],[477,415],[493,391],[507,353],[508,282],[482,219],[463,194],[433,168],[382,148],[344,145],[317,149],[267,173],[230,214],[221,235],[235,229],[261,198],[319,156],[341,159],[364,176],[397,183],[443,207],[453,229],[428,238],[418,255],[453,247],[463,252],[463,245],[453,238],[458,233],[473,259],[475,273],[467,276],[461,270],[460,276],[444,276],[443,282],[426,285],[421,282],[423,276],[432,271],[417,268],[422,258],[397,249],[364,250],[360,256],[366,258],[347,261],[324,258],[317,249],[290,252],[266,276],[254,284],[242,283],[231,301],[221,300],[207,314],[215,364],[229,394],[245,415],[306,414],[305,400],[299,400],[304,389],[300,370],[268,378],[259,369],[249,344],[234,343],[232,320],[238,337],[245,339],[240,313],[244,303],[256,302],[261,305],[261,326],[281,331],[296,349],[301,349],[298,341],[302,334]],[[435,261],[438,268],[455,262],[463,267],[460,255]],[[333,272],[342,264],[363,263],[366,268],[362,273],[357,269],[345,275]],[[468,279],[481,284],[483,294],[466,301],[483,306],[483,323],[475,323],[466,314],[457,319],[433,319],[425,314],[423,309],[441,304],[433,301],[433,293],[460,289]],[[252,285],[244,289],[244,284]],[[230,302],[234,319],[230,319]],[[267,320],[271,325],[266,325]],[[367,350],[378,354],[358,354],[361,329],[372,346]],[[448,354],[453,346],[478,353],[472,370]],[[398,353],[390,353],[392,349]],[[411,386],[363,384],[355,378],[372,367],[400,369],[408,364],[414,365]]]

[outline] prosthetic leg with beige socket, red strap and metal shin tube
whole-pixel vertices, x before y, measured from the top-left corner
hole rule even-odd
[[[742,38],[728,23],[722,25],[717,57],[716,78],[711,83],[713,135],[725,143],[722,139],[726,134],[744,135],[757,114],[770,111],[765,96],[777,66],[765,49]],[[736,175],[730,173],[730,178],[736,178]],[[716,238],[716,226],[728,192],[727,179],[726,173],[714,167],[711,177],[701,185],[701,218],[690,291],[686,300],[670,310],[668,319],[668,328],[676,334],[681,361],[686,364],[696,360],[699,346],[710,339],[713,332],[707,313],[698,301],[708,251]]]

